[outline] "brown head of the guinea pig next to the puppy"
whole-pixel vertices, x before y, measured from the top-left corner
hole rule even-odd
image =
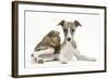
[[[48,36],[51,40],[51,42],[55,43],[56,47],[60,45],[60,42],[61,42],[61,38],[60,38],[60,32],[57,31],[57,30],[51,30]]]

